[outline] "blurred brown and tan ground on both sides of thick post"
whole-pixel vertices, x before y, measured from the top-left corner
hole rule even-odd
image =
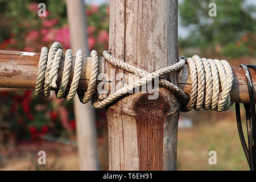
[[[225,112],[181,113],[193,121],[189,129],[179,129],[177,170],[248,170],[238,136],[234,107]],[[200,119],[199,116],[200,115]],[[244,118],[244,112],[242,112]],[[100,168],[108,169],[108,139],[98,138]],[[72,140],[76,138],[73,137]],[[38,165],[38,151],[47,154],[47,165]],[[208,163],[209,151],[217,152],[217,164]],[[78,170],[77,147],[41,140],[1,149],[1,170]]]

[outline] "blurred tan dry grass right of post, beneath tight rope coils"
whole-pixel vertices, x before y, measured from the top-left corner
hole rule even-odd
[[[180,129],[177,144],[178,170],[248,170],[237,131],[234,107],[218,113],[192,111],[191,129]],[[244,115],[244,113],[242,113]],[[198,120],[200,118],[200,120]],[[244,117],[243,117],[244,118]],[[209,151],[217,152],[217,164],[208,163]]]

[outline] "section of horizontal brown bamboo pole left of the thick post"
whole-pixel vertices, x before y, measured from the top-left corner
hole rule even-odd
[[[26,88],[34,89],[36,76],[38,73],[38,61],[40,53],[35,53],[34,56],[22,56],[20,51],[3,51],[0,50],[0,87],[2,88]],[[64,68],[64,56],[60,61],[60,68],[58,71],[57,85],[60,85],[62,72]],[[75,59],[72,57],[72,68],[70,81],[72,81]],[[103,73],[102,57],[100,57],[99,72]],[[86,90],[90,79],[90,57],[84,57],[82,63],[81,77],[79,81],[79,89]],[[99,80],[101,81],[101,80]]]

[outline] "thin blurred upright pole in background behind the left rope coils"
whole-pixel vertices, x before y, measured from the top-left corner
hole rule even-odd
[[[77,49],[82,49],[84,55],[89,56],[84,1],[68,0],[67,10],[73,54],[76,53]],[[74,109],[80,169],[98,170],[95,114],[92,104],[90,102],[81,104],[76,96],[74,99]]]

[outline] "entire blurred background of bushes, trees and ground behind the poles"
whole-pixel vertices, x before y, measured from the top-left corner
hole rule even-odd
[[[47,16],[38,17],[38,3]],[[217,16],[208,15],[209,3]],[[86,1],[89,49],[108,49],[109,1]],[[0,49],[40,52],[55,41],[71,47],[63,0],[0,0]],[[179,55],[226,59],[232,66],[256,64],[256,2],[179,1]],[[243,108],[243,107],[242,107]],[[108,131],[104,109],[96,111],[98,159],[108,170]],[[245,112],[242,111],[242,119]],[[38,165],[38,151],[47,165]],[[217,165],[209,165],[209,151]],[[73,103],[34,96],[33,90],[0,89],[0,170],[78,170]],[[181,113],[177,170],[248,170],[238,136],[234,106],[225,112]]]

